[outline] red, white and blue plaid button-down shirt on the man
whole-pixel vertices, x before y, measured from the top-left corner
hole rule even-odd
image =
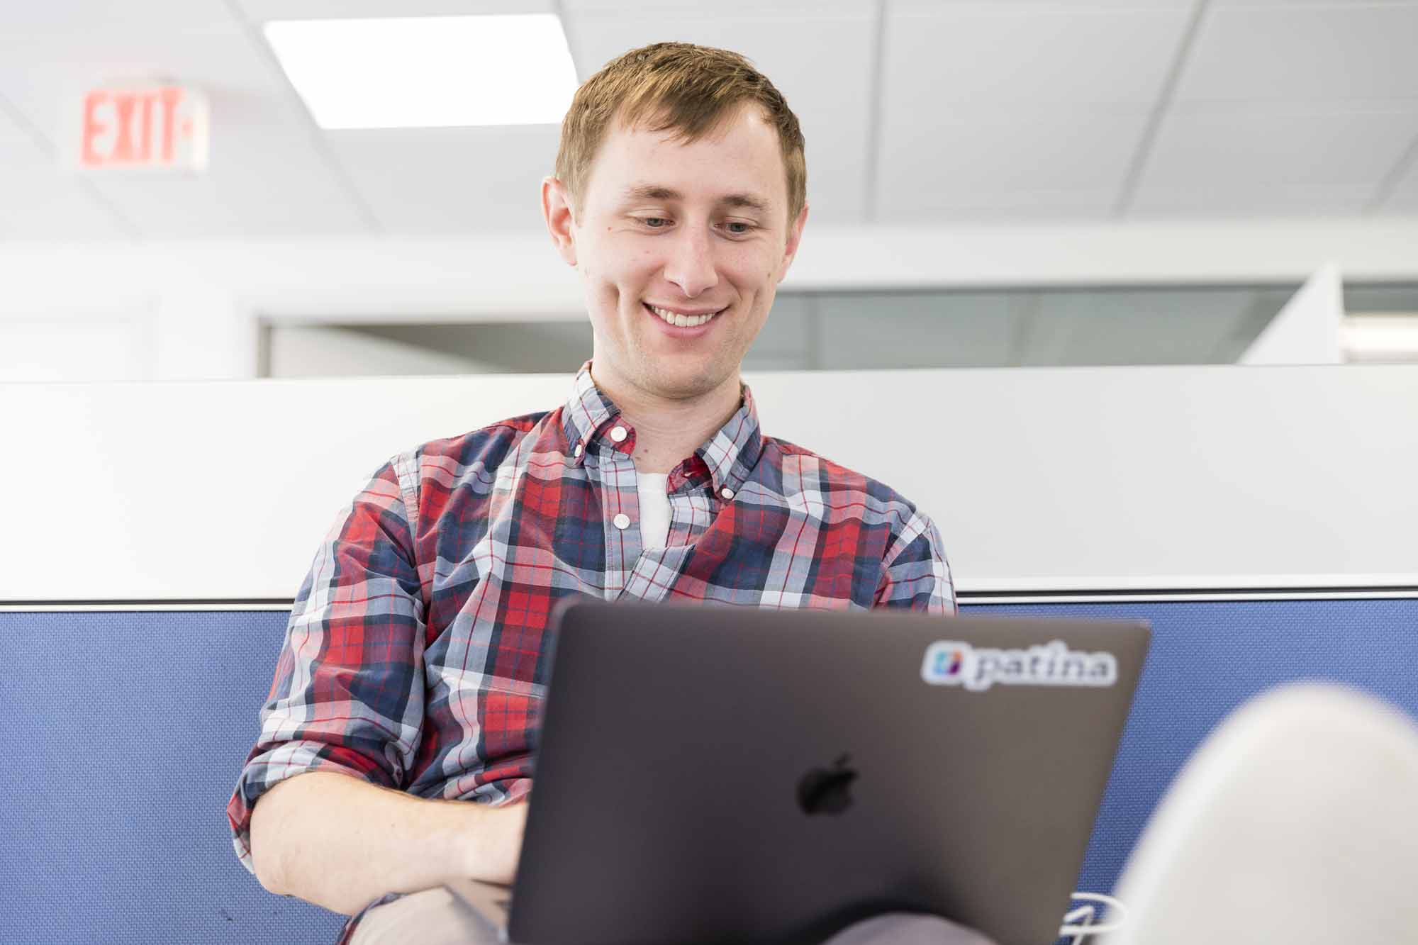
[[[644,549],[635,430],[590,368],[557,410],[394,457],[340,512],[296,595],[227,805],[248,870],[252,805],[302,772],[420,797],[525,796],[547,619],[569,595],[954,612],[930,519],[881,482],[761,436],[747,387],[671,471],[666,548]]]

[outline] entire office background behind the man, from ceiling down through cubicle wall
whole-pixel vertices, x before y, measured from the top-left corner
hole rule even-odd
[[[726,45],[803,118],[767,433],[919,502],[967,609],[1153,620],[1079,888],[1249,695],[1418,714],[1418,3],[7,4],[0,939],[333,938],[225,834],[284,614],[376,467],[590,333],[553,125],[322,128],[265,24],[537,11],[579,79]],[[72,166],[135,79],[206,94],[206,170]]]

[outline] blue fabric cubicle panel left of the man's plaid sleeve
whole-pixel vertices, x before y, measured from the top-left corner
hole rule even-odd
[[[225,805],[289,613],[0,613],[0,942],[333,942]]]

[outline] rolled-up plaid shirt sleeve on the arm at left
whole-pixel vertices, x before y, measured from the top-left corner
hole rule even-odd
[[[251,861],[251,810],[295,775],[328,770],[403,788],[424,718],[424,602],[413,507],[394,461],[340,511],[296,595],[259,712],[259,735],[227,805]]]

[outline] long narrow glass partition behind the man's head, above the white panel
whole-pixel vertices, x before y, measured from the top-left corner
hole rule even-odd
[[[780,292],[746,370],[1234,363],[1296,285]],[[590,356],[564,321],[284,324],[261,376],[567,373]]]

